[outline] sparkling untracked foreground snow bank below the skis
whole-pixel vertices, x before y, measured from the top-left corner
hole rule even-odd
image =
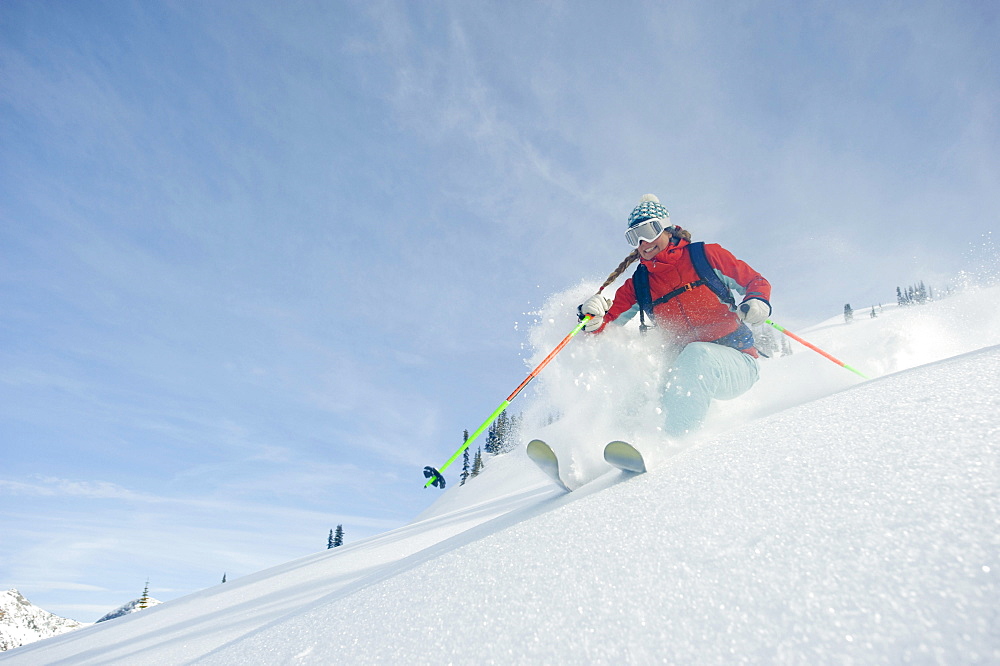
[[[998,377],[994,347],[795,408],[209,663],[995,661]]]

